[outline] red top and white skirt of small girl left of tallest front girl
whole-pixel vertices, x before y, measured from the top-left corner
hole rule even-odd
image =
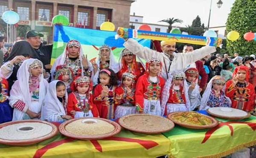
[[[134,114],[136,111],[135,107],[135,89],[132,89],[131,96],[127,95],[125,88],[121,85],[116,88],[116,95],[121,96],[121,99],[116,99],[116,110],[115,118],[120,118],[125,115]]]

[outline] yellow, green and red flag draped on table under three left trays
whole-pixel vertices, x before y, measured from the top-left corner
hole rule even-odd
[[[0,144],[0,157],[156,158],[169,154],[169,147],[169,140],[162,134],[145,135],[122,130],[110,138],[82,141],[58,133],[46,141],[24,147]]]

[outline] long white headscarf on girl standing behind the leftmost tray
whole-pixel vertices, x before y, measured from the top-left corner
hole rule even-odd
[[[18,100],[21,100],[25,103],[25,107],[28,107],[29,110],[32,110],[33,107],[31,107],[31,95],[29,92],[29,65],[31,65],[35,60],[38,59],[27,59],[25,60],[22,65],[20,66],[18,72],[17,72],[17,81],[12,86],[12,89],[10,91],[10,97],[9,97],[9,104],[13,106]],[[38,60],[41,62],[40,60]],[[42,72],[43,72],[43,63],[42,64]],[[39,77],[39,105],[42,106],[44,102],[44,98],[47,92],[48,88],[48,82],[44,79],[43,74],[41,74]],[[41,112],[41,108],[38,112]],[[13,113],[13,121],[15,120],[22,120],[24,113],[20,110],[15,109]]]

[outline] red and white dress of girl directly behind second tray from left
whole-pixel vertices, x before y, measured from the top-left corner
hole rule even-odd
[[[76,115],[70,114],[70,111],[75,110]],[[89,94],[89,97],[80,95],[77,92],[72,92],[68,95],[67,102],[67,114],[73,118],[79,117],[99,117],[98,109],[93,103],[93,96]]]

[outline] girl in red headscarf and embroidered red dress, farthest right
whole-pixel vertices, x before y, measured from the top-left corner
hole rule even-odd
[[[233,79],[226,83],[226,96],[230,98],[231,107],[251,111],[255,105],[255,90],[249,83],[249,68],[244,65],[238,66],[233,72]]]

